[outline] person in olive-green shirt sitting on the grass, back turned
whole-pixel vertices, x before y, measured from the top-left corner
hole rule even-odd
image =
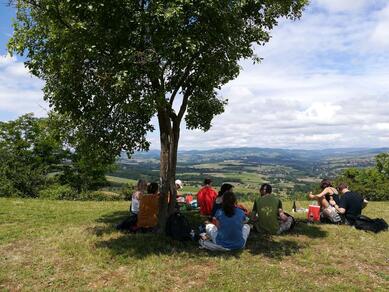
[[[254,201],[251,213],[255,229],[270,234],[280,234],[289,230],[293,217],[284,213],[281,200],[272,194],[271,185],[262,184],[259,193],[260,197]]]

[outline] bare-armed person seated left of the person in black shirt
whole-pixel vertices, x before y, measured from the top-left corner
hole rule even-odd
[[[339,204],[339,195],[336,188],[328,179],[323,179],[320,183],[322,192],[314,195],[312,192],[308,194],[308,199],[317,200],[321,210],[321,217],[328,219],[331,223],[341,222],[339,214],[331,205]]]

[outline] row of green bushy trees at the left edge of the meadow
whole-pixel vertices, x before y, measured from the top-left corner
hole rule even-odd
[[[64,116],[25,114],[0,122],[0,196],[35,198],[57,191],[74,197],[106,185],[113,163]]]

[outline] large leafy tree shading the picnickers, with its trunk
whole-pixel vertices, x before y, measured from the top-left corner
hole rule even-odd
[[[307,0],[15,0],[9,50],[26,53],[45,80],[45,99],[118,155],[147,150],[158,117],[160,224],[174,210],[180,124],[207,131],[226,100],[222,85],[253,44],[269,41],[280,17],[299,18]]]

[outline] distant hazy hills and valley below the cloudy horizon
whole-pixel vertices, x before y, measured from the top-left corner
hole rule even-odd
[[[275,148],[223,148],[212,150],[179,151],[177,171],[187,174],[192,172],[227,172],[248,171],[259,166],[271,166],[275,177],[286,171],[290,177],[335,177],[345,168],[371,167],[375,165],[374,157],[379,153],[389,152],[389,148],[338,148],[322,150],[275,149]],[[159,169],[159,151],[138,152],[128,159],[126,154],[118,163],[127,171],[135,174],[147,170]],[[125,166],[127,165],[127,166]],[[131,165],[131,167],[129,167]],[[281,167],[281,168],[279,168]],[[221,170],[222,169],[222,170]],[[261,170],[264,173],[264,170]],[[267,173],[266,175],[269,175]],[[289,180],[291,178],[288,178]]]

